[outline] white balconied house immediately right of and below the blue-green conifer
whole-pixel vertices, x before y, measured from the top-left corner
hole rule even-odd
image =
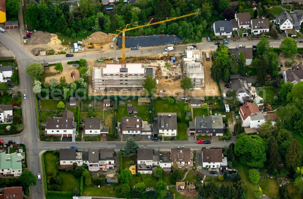
[[[153,149],[140,148],[137,151],[137,172],[152,174]]]

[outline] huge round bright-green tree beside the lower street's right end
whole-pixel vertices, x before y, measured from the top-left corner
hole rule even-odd
[[[250,167],[264,167],[266,143],[258,135],[240,135],[235,143],[235,154],[241,163]]]

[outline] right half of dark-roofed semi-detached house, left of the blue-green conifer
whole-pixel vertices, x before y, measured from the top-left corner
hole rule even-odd
[[[115,149],[99,149],[99,170],[114,169],[115,165]]]

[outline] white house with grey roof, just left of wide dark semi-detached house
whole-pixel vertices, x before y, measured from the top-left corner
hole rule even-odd
[[[158,135],[171,137],[177,134],[177,113],[158,113]]]

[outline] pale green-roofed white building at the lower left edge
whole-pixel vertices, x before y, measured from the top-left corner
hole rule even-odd
[[[13,175],[14,177],[20,176],[22,174],[21,153],[0,153],[0,174]]]

